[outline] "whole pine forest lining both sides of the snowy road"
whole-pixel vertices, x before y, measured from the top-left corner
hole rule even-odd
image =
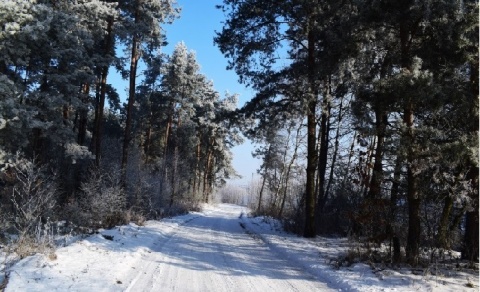
[[[478,262],[478,1],[218,2],[241,107],[184,43],[162,52],[175,0],[0,2],[0,244],[245,202],[227,182],[247,138],[255,214],[388,262]]]

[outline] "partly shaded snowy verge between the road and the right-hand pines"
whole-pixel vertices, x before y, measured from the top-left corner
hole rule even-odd
[[[272,219],[242,216],[254,236],[295,262],[319,280],[336,283],[344,291],[478,291],[478,271],[419,271],[418,269],[374,268],[365,263],[334,268],[334,262],[352,246],[347,238],[305,239],[281,231]],[[469,286],[473,285],[473,288]]]

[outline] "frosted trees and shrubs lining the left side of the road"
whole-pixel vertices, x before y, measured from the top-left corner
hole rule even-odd
[[[237,96],[185,44],[162,53],[179,13],[173,0],[0,3],[0,239],[184,212],[235,175]]]

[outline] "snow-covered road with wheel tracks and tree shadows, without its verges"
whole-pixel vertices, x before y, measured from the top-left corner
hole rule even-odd
[[[327,291],[240,225],[223,205],[162,239],[127,291]]]

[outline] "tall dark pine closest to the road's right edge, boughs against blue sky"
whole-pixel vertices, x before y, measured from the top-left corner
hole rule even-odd
[[[341,71],[350,50],[346,40],[354,31],[349,21],[355,13],[353,3],[225,0],[220,8],[227,21],[215,42],[230,58],[229,68],[235,69],[240,81],[258,90],[243,113],[254,117],[293,112],[307,120],[304,236],[314,237],[317,169],[322,181],[326,175],[330,77]]]

